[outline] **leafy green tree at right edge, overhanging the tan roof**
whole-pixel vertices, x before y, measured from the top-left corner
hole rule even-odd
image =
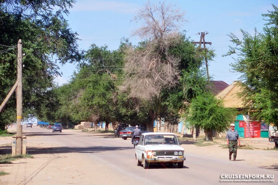
[[[243,92],[240,96],[245,101],[246,112],[253,119],[278,126],[278,8],[272,6],[273,11],[263,14],[268,23],[261,32],[255,29],[252,36],[241,30],[242,41],[231,34],[236,47],[230,47],[224,56],[238,56],[231,66],[242,74]]]

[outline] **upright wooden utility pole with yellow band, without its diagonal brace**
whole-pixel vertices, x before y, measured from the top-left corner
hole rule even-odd
[[[22,154],[22,41],[17,43],[16,155]]]

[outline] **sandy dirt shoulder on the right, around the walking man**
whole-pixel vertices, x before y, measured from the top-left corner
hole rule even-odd
[[[195,143],[191,137],[184,137],[181,140],[183,140],[181,146],[187,154],[229,161],[229,150],[225,138],[214,139],[213,142],[203,142],[201,136],[201,138],[197,138],[199,143]],[[278,150],[271,149],[275,147],[275,144],[269,142],[268,138],[242,138],[240,144],[242,147],[238,147],[237,150],[237,163],[278,170]]]

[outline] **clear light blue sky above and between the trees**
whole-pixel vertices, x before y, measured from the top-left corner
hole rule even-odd
[[[87,50],[95,43],[98,46],[107,45],[110,50],[114,50],[120,45],[122,37],[129,38],[133,44],[139,41],[136,37],[130,36],[136,28],[131,19],[145,2],[147,1],[77,1],[69,10],[70,14],[66,19],[70,28],[82,39],[78,41],[80,49]],[[241,32],[238,32],[241,28],[253,34],[256,27],[260,32],[266,23],[265,20],[261,20],[261,14],[273,10],[271,4],[278,4],[277,0],[168,0],[166,3],[176,5],[181,11],[186,12],[185,19],[188,23],[184,24],[181,30],[187,30],[187,35],[194,41],[200,40],[200,35],[196,33],[208,31],[205,40],[212,42],[210,47],[215,49],[217,54],[214,61],[209,63],[209,74],[214,80],[223,80],[228,84],[238,80],[240,75],[231,72],[230,63],[234,60],[221,56],[228,51],[228,45],[232,44],[226,34],[235,32],[241,39]],[[59,66],[63,75],[57,77],[56,81],[61,85],[70,80],[76,68],[74,64]]]

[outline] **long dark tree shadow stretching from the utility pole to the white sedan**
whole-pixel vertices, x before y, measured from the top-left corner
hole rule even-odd
[[[131,147],[108,147],[108,146],[93,146],[93,147],[49,147],[37,148],[26,147],[28,154],[54,154],[54,153],[99,153],[105,151],[127,150]],[[11,153],[11,146],[1,146],[0,154]]]

